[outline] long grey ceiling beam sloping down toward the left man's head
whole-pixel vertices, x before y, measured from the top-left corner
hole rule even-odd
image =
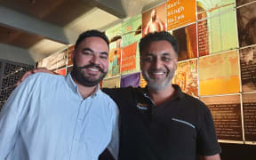
[[[70,35],[78,35],[70,29],[60,28],[45,21],[36,20],[28,15],[2,6],[0,6],[0,25],[17,28],[30,34],[44,36],[61,44],[74,43],[74,37]]]

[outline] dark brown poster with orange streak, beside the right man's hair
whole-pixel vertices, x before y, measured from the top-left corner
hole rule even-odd
[[[172,31],[179,42],[178,61],[197,57],[196,23]]]

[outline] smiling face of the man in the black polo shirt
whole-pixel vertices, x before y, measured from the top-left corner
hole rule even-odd
[[[140,52],[142,76],[153,91],[172,86],[172,77],[177,67],[177,56],[168,41],[154,41]]]

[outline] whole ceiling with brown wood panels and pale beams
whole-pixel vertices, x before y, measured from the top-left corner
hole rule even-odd
[[[49,55],[84,30],[109,28],[163,1],[0,0],[0,43]]]

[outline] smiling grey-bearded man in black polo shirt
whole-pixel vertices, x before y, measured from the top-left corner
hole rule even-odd
[[[140,40],[147,87],[103,89],[119,106],[120,160],[220,160],[211,112],[172,84],[177,59],[175,37],[150,33]]]

